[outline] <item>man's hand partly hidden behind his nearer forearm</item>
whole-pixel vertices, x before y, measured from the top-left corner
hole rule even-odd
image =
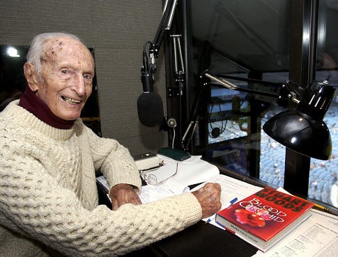
[[[128,184],[114,185],[109,192],[109,197],[112,199],[113,210],[117,210],[123,204],[142,204],[132,185]]]

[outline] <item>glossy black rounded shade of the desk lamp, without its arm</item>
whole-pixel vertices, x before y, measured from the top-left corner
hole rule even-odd
[[[314,82],[302,94],[297,109],[284,110],[273,116],[263,125],[263,131],[293,151],[328,160],[332,141],[323,117],[334,97],[334,87],[326,82]]]

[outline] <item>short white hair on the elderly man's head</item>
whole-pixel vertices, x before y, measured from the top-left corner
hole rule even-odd
[[[45,44],[47,40],[52,38],[66,37],[72,38],[79,42],[82,42],[76,35],[72,35],[70,33],[62,33],[62,32],[52,32],[52,33],[42,33],[36,35],[35,38],[31,41],[31,46],[29,47],[29,51],[27,53],[27,63],[31,63],[36,68],[36,72],[38,77],[40,77],[41,72],[41,63],[43,59],[43,53],[45,50]]]

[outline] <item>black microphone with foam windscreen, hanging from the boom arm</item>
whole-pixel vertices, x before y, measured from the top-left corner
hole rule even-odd
[[[143,93],[137,99],[137,114],[139,121],[144,126],[159,126],[163,121],[163,101],[159,94],[154,91],[154,70],[149,70],[148,56],[143,51],[143,65],[141,67],[141,82]]]

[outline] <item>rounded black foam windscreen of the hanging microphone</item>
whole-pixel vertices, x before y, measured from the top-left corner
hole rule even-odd
[[[163,121],[163,101],[155,92],[144,92],[137,99],[139,121],[144,126],[158,126]]]

